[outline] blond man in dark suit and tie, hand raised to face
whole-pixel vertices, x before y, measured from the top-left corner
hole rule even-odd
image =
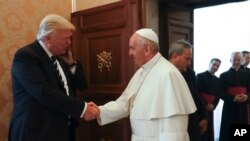
[[[72,141],[72,119],[92,118],[99,112],[74,98],[75,89],[87,84],[80,63],[68,51],[74,30],[61,16],[47,15],[37,40],[16,52],[9,141]]]

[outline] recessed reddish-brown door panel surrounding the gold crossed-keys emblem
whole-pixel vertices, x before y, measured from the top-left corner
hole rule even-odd
[[[126,67],[127,52],[126,32],[122,28],[85,33],[82,44],[86,56],[86,74],[89,80],[89,91],[119,91],[125,85],[123,75]],[[111,68],[98,68],[97,55],[103,51],[110,53]]]

